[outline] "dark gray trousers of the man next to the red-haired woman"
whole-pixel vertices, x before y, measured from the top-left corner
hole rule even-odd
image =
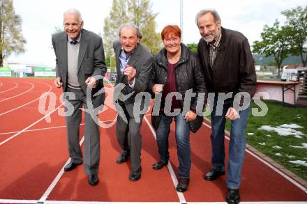
[[[140,123],[137,123],[135,118],[128,114],[125,105],[121,102],[119,104],[123,108],[128,124],[121,116],[117,116],[117,141],[123,151],[130,152],[131,169],[136,171],[141,166],[142,135],[140,130],[144,115],[140,116]]]

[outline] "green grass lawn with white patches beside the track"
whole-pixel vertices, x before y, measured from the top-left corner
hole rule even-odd
[[[246,127],[246,143],[307,181],[307,108],[287,107],[269,100],[264,102],[268,107],[266,116],[256,117],[250,111]],[[259,107],[252,103],[251,108]],[[277,127],[283,124],[297,124],[301,126],[302,128],[294,130],[302,132],[304,135],[301,138],[297,138],[293,135],[280,136],[277,132],[258,130],[262,125]],[[225,129],[230,131],[229,121],[227,121]],[[303,147],[303,143],[306,144],[305,148],[291,147]],[[279,146],[280,148],[273,148],[273,146]],[[305,161],[306,166],[289,162],[297,160]]]

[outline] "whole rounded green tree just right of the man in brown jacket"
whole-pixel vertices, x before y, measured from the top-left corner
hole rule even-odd
[[[289,28],[279,26],[276,19],[273,26],[265,25],[262,31],[262,41],[256,40],[253,44],[253,53],[264,54],[264,56],[273,56],[278,68],[278,77],[280,77],[280,66],[283,60],[290,54]]]

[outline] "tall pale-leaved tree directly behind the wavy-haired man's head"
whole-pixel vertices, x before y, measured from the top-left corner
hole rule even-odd
[[[143,35],[142,45],[147,47],[151,54],[156,54],[162,45],[160,34],[156,33],[156,15],[151,10],[150,0],[113,0],[103,29],[106,55],[112,55],[112,44],[119,38],[117,29],[126,22],[133,22],[139,27]]]

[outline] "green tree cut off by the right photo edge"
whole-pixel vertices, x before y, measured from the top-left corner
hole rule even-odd
[[[306,67],[307,63],[307,6],[303,9],[301,6],[285,10],[282,12],[285,15],[285,26],[289,28],[288,35],[290,36],[291,53],[296,56],[301,56],[301,63]]]

